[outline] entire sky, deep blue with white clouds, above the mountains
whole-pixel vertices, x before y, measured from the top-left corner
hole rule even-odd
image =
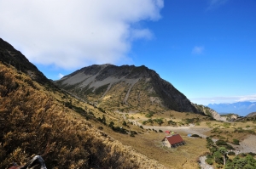
[[[0,0],[0,25],[50,79],[146,65],[196,104],[256,101],[255,0]]]

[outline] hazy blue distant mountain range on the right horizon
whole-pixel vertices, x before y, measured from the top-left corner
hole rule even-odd
[[[237,102],[233,104],[208,104],[212,110],[216,110],[220,114],[234,113],[246,116],[256,111],[256,102]]]

